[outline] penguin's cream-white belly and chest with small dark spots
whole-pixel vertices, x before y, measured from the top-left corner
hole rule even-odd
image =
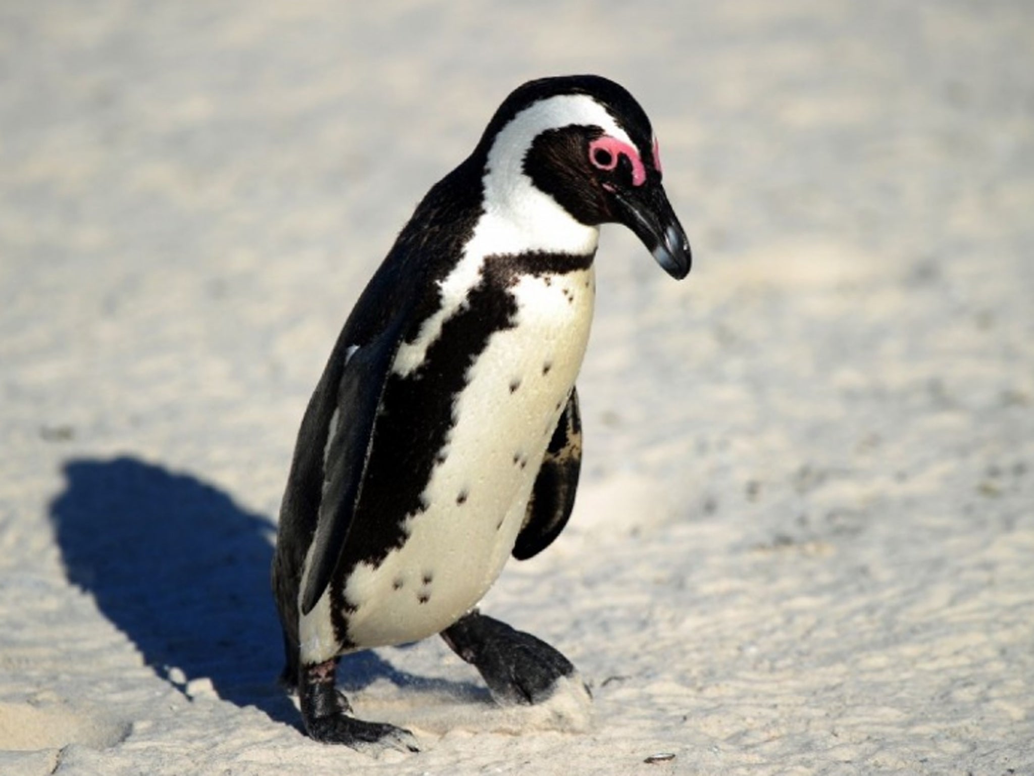
[[[345,599],[360,647],[424,638],[449,627],[495,581],[513,550],[546,446],[588,344],[591,267],[523,275],[510,290],[513,327],[494,332],[453,404],[453,426],[406,517],[405,543],[361,563]]]

